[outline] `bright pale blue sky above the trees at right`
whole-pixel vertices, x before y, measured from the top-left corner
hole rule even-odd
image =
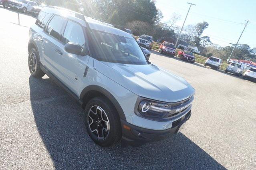
[[[239,43],[256,47],[256,0],[156,0],[156,7],[163,14],[161,22],[167,22],[175,12],[181,15],[175,25],[181,27],[189,8],[187,2],[196,6],[191,6],[184,27],[206,21],[209,26],[202,36],[225,47],[237,42],[245,20],[249,20]]]

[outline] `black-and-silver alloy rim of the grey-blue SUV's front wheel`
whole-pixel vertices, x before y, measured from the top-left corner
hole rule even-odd
[[[109,118],[101,107],[92,106],[87,119],[91,132],[98,139],[105,139],[109,135]]]

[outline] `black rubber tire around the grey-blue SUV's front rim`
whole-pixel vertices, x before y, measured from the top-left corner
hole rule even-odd
[[[104,135],[102,135],[103,138],[99,138],[99,133],[98,132],[96,132],[97,134],[93,133],[92,132],[93,130],[91,130],[91,128],[89,127],[90,120],[91,120],[91,124],[93,122],[95,122],[95,125],[97,124],[96,123],[97,121],[93,121],[93,119],[91,119],[89,116],[90,109],[95,106],[100,107],[104,111],[105,115],[107,115],[106,118],[109,121],[109,130],[105,138],[104,138]],[[115,144],[121,139],[122,132],[121,132],[120,118],[114,105],[109,101],[109,99],[107,99],[107,97],[95,97],[91,99],[85,107],[84,120],[85,120],[85,127],[87,129],[87,132],[96,144],[102,147],[108,147]],[[102,134],[103,134],[103,130],[102,130]]]

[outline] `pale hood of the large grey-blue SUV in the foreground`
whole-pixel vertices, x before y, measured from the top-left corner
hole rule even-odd
[[[155,65],[109,63],[95,59],[94,67],[103,75],[138,96],[164,102],[177,102],[194,95],[185,79]]]

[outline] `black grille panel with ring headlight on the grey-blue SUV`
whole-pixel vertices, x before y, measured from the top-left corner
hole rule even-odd
[[[177,115],[178,113],[190,107],[193,99],[194,97],[190,97],[186,101],[183,101],[183,103],[162,103],[157,101],[150,101],[148,99],[142,99],[139,104],[137,104],[135,113],[147,119],[167,121],[174,115]]]

